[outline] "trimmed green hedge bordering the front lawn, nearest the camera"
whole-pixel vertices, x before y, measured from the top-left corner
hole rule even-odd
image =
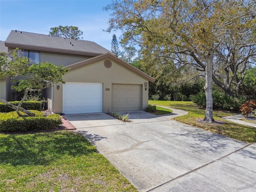
[[[0,131],[30,131],[50,130],[62,124],[59,114],[44,116],[40,111],[30,110],[36,114],[35,117],[19,117],[16,112],[0,113]]]

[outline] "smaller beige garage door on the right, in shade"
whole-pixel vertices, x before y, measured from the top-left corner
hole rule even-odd
[[[141,85],[112,84],[112,111],[141,110]]]

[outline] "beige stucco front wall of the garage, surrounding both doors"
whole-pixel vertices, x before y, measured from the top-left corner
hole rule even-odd
[[[104,66],[104,60],[80,66],[70,70],[64,75],[66,82],[89,82],[103,84],[103,112],[112,109],[112,84],[141,84],[142,110],[148,106],[148,90],[144,89],[144,82],[148,80],[112,61],[111,68]],[[60,89],[54,88],[54,112],[62,113],[62,84]],[[108,89],[109,90],[106,90]]]

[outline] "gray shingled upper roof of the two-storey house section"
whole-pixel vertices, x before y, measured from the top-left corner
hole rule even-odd
[[[71,42],[71,44],[70,44]],[[8,47],[32,48],[73,54],[101,55],[112,53],[92,41],[75,40],[30,32],[12,30],[5,41]],[[73,46],[72,46],[73,45]]]

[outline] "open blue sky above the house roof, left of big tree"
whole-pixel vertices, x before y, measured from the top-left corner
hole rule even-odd
[[[108,28],[109,12],[103,9],[111,0],[0,0],[0,40],[11,30],[49,34],[57,26],[77,26],[83,40],[96,42],[111,50],[112,35]],[[119,39],[118,39],[119,40]]]

